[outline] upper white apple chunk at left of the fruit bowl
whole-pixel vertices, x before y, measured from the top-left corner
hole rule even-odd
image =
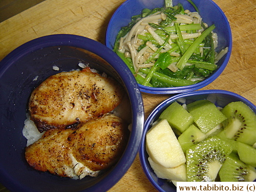
[[[180,143],[166,119],[160,120],[146,133],[146,151],[154,162],[167,168],[186,162]]]

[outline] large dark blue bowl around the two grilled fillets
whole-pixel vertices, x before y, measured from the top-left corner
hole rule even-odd
[[[113,76],[130,97],[132,131],[118,163],[98,177],[81,180],[61,178],[31,168],[25,160],[27,140],[22,134],[32,90],[50,75],[78,69],[78,62]],[[53,66],[59,67],[54,71]],[[37,80],[33,79],[38,76]],[[141,142],[144,112],[138,84],[122,60],[92,39],[50,35],[27,42],[0,62],[0,182],[11,191],[106,191],[126,173]]]

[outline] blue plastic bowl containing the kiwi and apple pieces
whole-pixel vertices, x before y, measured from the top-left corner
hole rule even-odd
[[[204,90],[178,94],[160,103],[145,121],[141,146],[139,150],[139,157],[146,177],[148,178],[148,180],[150,180],[154,187],[161,192],[176,191],[176,186],[172,182],[168,182],[165,179],[157,178],[154,170],[151,168],[150,163],[147,160],[148,154],[146,153],[145,149],[146,132],[151,128],[153,122],[155,122],[159,118],[160,114],[173,102],[178,101],[180,103],[188,104],[201,99],[209,99],[211,101],[215,101],[215,104],[222,108],[230,102],[243,101],[254,111],[254,113],[256,113],[256,106],[252,104],[249,100],[236,93],[223,90]]]

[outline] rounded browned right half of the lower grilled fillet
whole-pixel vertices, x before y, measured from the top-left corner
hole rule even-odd
[[[77,161],[91,170],[102,170],[119,159],[128,135],[127,125],[122,119],[107,115],[84,124],[68,140]]]

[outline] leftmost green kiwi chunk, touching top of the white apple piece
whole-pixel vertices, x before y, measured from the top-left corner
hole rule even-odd
[[[180,135],[194,122],[193,117],[178,102],[173,102],[160,115],[159,119],[166,119],[172,128]]]

